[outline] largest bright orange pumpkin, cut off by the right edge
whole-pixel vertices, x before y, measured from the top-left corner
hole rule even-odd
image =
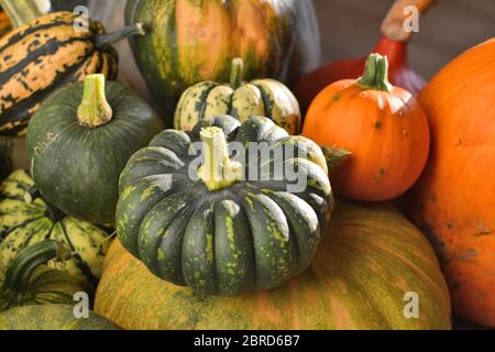
[[[420,95],[432,150],[409,197],[459,316],[495,328],[495,38],[447,65]]]

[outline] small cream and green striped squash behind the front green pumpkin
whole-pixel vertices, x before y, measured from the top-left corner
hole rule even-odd
[[[243,82],[243,62],[232,61],[229,84],[204,81],[188,88],[174,116],[177,130],[190,131],[200,120],[229,114],[241,122],[252,116],[267,117],[289,134],[300,134],[299,103],[290,90],[274,79]]]

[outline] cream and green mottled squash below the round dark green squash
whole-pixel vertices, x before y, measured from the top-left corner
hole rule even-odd
[[[101,276],[110,245],[97,227],[67,217],[41,197],[33,199],[34,183],[16,170],[0,186],[0,265],[9,266],[23,249],[46,239],[58,241],[74,253],[64,270],[91,290]]]

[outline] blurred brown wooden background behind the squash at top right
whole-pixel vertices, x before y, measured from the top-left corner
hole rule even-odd
[[[367,55],[393,0],[312,0],[323,63]],[[410,65],[430,78],[452,58],[495,36],[495,0],[439,0],[409,44]],[[495,65],[495,58],[494,58]]]

